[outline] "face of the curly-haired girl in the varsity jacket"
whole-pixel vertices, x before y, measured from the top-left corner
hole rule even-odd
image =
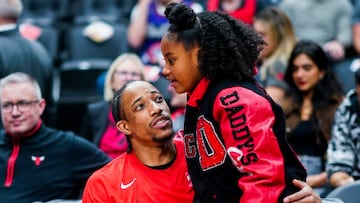
[[[165,59],[163,75],[177,93],[191,92],[201,80],[198,68],[198,47],[186,50],[181,42],[164,35],[161,52]]]

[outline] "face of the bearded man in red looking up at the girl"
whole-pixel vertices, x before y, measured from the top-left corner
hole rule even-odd
[[[160,146],[173,136],[170,109],[164,97],[144,81],[130,83],[122,96],[125,119],[117,123],[135,146]]]

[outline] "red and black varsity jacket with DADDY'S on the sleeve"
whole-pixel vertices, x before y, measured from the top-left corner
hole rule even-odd
[[[184,125],[194,202],[282,202],[306,172],[285,139],[281,108],[255,82],[203,79]]]

